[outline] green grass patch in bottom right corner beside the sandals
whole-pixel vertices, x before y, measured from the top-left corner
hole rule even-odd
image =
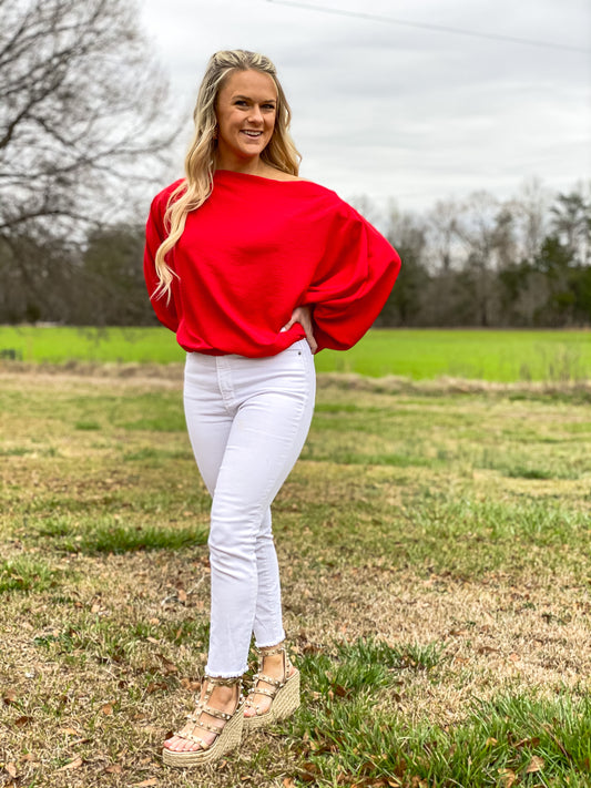
[[[386,669],[387,648],[376,646],[381,658],[363,675],[359,644],[348,653],[340,649],[336,671],[335,659],[324,655],[306,659],[303,669],[310,685],[324,685],[324,692],[314,712],[304,709],[294,726],[297,738],[306,743],[304,782],[441,788],[589,785],[589,697],[573,702],[560,694],[499,695],[487,702],[473,699],[458,725],[411,726],[380,704],[380,698],[396,698],[404,682],[396,669]],[[365,658],[361,664],[367,666]],[[344,685],[333,677],[327,680],[330,668]]]

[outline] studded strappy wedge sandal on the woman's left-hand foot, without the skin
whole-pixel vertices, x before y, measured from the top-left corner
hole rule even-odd
[[[187,719],[193,724],[191,733],[175,733],[182,739],[194,741],[200,745],[200,749],[176,751],[164,747],[162,749],[162,759],[167,766],[177,766],[186,768],[188,766],[201,766],[202,764],[212,764],[230,750],[235,749],[242,738],[242,729],[244,725],[244,699],[242,698],[242,677],[241,678],[217,678],[205,676],[205,693],[193,714],[187,715]],[[233,714],[221,712],[218,708],[208,706],[208,700],[215,687],[238,687],[238,700]],[[210,725],[201,722],[201,715],[208,714],[216,719],[221,719],[225,725]],[[202,728],[215,734],[216,737],[212,744],[207,744],[200,736],[195,736],[195,728]]]

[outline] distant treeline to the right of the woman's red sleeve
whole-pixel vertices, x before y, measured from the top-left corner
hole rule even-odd
[[[403,270],[381,326],[591,324],[591,201],[539,182],[506,202],[480,192],[426,215],[393,212]]]

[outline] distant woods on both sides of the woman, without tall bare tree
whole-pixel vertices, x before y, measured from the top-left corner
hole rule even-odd
[[[569,327],[591,324],[591,202],[530,183],[499,202],[480,192],[377,222],[403,257],[380,326]],[[154,325],[143,223],[92,231],[82,245],[0,239],[0,323]]]

